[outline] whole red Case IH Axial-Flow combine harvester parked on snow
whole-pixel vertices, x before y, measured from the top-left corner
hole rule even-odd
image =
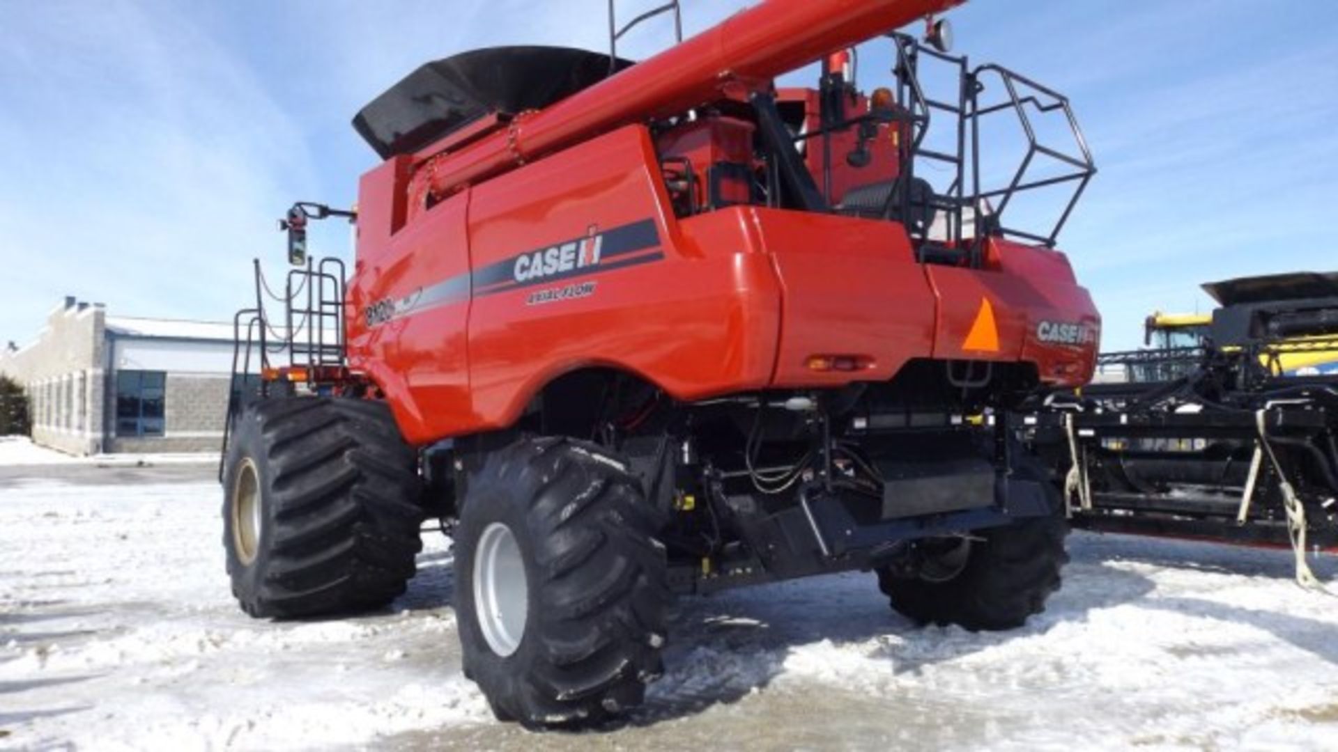
[[[1061,95],[969,67],[943,21],[895,31],[957,4],[767,0],[636,64],[632,24],[609,55],[480,50],[363,108],[384,163],[356,217],[296,205],[286,331],[258,264],[237,318],[242,607],[384,606],[439,519],[464,672],[526,725],[641,702],[677,594],[866,570],[921,622],[1038,613],[1066,525],[1008,415],[1092,375],[1053,246],[1094,169]],[[892,59],[870,91],[866,40]],[[816,88],[776,90],[812,62]],[[1024,155],[991,187],[998,119]],[[1034,187],[1068,191],[1057,219],[1006,223]],[[306,258],[329,215],[357,226],[347,280]]]

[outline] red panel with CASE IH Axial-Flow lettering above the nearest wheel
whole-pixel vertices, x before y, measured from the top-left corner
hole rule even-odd
[[[680,399],[761,388],[779,329],[769,260],[736,213],[680,223],[645,127],[474,189],[475,423],[499,428],[557,376],[607,365]]]

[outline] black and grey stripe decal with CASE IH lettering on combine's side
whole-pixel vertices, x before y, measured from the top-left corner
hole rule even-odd
[[[574,252],[569,250],[571,246],[575,246]],[[565,250],[567,252],[565,261],[570,264],[569,268],[562,269],[561,262],[563,261]],[[591,256],[594,256],[593,261]],[[547,270],[543,266],[537,272],[531,269],[537,262],[543,264],[550,258],[557,261],[557,268],[553,270]],[[573,277],[611,272],[662,258],[664,252],[660,244],[660,230],[656,227],[654,219],[641,219],[602,233],[591,233],[586,237],[518,253],[502,261],[488,264],[472,274],[456,274],[419,288],[399,300],[376,302],[367,308],[367,322],[369,326],[375,326],[392,318],[401,318],[431,308],[460,302],[468,300],[471,288],[475,297],[482,297],[559,282]],[[518,278],[518,273],[519,276],[524,276],[524,273],[530,274],[524,276],[524,278]]]

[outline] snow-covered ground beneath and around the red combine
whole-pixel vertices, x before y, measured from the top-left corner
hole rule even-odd
[[[1074,535],[1008,634],[918,629],[863,574],[688,599],[644,709],[537,737],[460,676],[440,535],[393,609],[254,621],[210,468],[169,470],[0,475],[0,748],[1338,749],[1338,598],[1284,553]]]

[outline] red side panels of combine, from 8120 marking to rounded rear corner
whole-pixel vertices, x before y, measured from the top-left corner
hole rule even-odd
[[[664,206],[641,126],[452,197],[360,258],[351,365],[416,443],[508,426],[591,365],[680,399],[764,388],[780,288],[756,229],[741,210],[680,223]]]

